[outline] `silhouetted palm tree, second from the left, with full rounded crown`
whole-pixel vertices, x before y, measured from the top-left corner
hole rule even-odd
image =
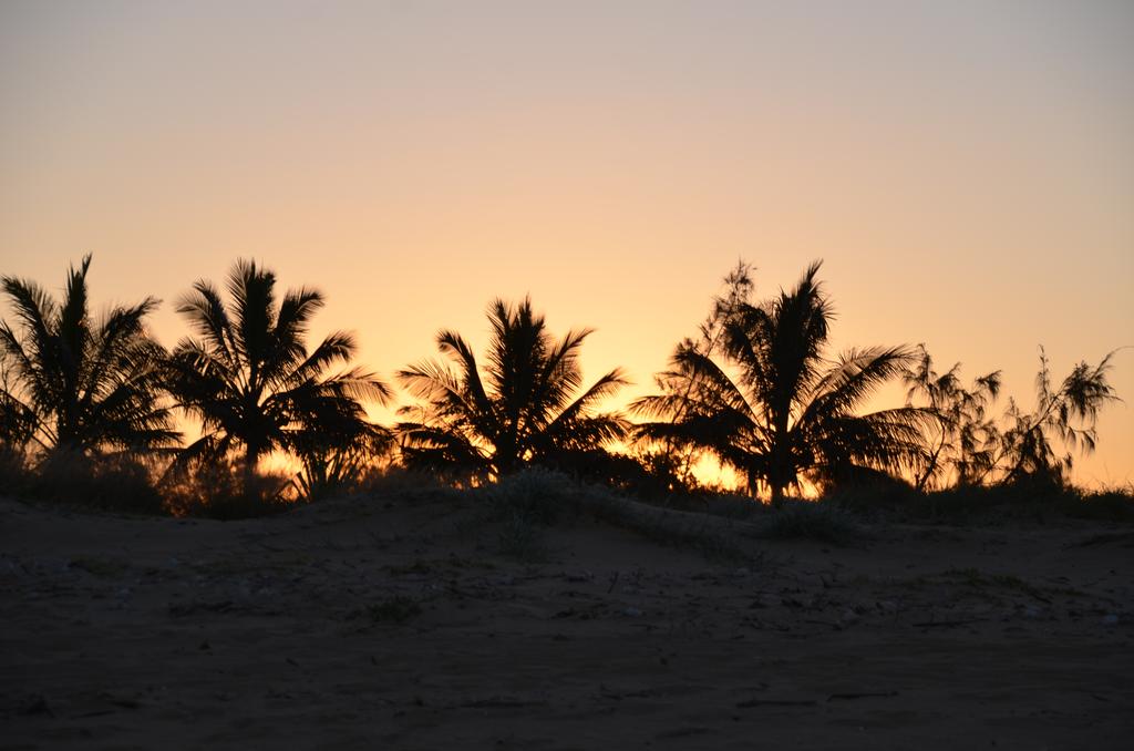
[[[212,284],[198,280],[180,301],[177,312],[201,338],[181,339],[174,349],[169,389],[203,429],[181,463],[238,452],[251,493],[266,454],[282,449],[312,458],[373,432],[359,399],[384,403],[390,390],[357,368],[324,374],[354,355],[350,334],[333,332],[307,352],[308,324],[324,304],[319,292],[288,290],[277,304],[276,275],[237,261],[228,293],[226,306]]]

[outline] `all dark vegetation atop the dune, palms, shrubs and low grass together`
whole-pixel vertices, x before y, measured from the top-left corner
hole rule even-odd
[[[1068,482],[1075,456],[1094,448],[1099,412],[1117,399],[1114,353],[1056,382],[1041,349],[1034,408],[1009,398],[997,420],[999,371],[966,385],[959,363],[937,372],[924,345],[830,360],[833,309],[819,263],[761,302],[751,268],[738,264],[699,335],[657,377],[660,393],[632,405],[646,422],[603,411],[627,383],[620,369],[584,388],[579,352],[592,330],[557,339],[525,298],[490,305],[483,362],[442,330],[445,360],[401,370],[417,403],[400,407],[392,429],[366,416],[364,402],[386,404],[392,391],[349,365],[352,335],[307,349],[319,292],[277,298],[274,273],[239,261],[228,302],[204,280],[179,302],[194,336],[170,354],[145,330],[153,298],[92,319],[90,265],[86,256],[70,269],[59,301],[2,278],[15,315],[0,324],[0,483],[9,493],[236,518],[336,495],[483,488],[474,498],[500,526],[500,550],[532,562],[547,557],[541,530],[564,510],[718,547],[728,547],[719,530],[691,520],[836,543],[861,537],[854,518],[871,516],[1134,521],[1131,488],[1089,492]],[[861,413],[899,378],[904,405]],[[177,408],[201,427],[185,447]],[[298,472],[262,472],[273,453]],[[742,487],[699,480],[705,457]],[[802,500],[809,495],[820,503]],[[762,500],[779,513],[768,516]]]

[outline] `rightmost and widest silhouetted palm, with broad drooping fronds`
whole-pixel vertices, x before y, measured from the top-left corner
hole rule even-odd
[[[662,394],[632,405],[661,419],[638,425],[637,438],[708,450],[776,505],[804,480],[831,484],[912,466],[922,454],[924,411],[855,413],[912,353],[871,347],[824,360],[832,310],[819,268],[812,264],[795,289],[772,301],[720,310],[719,347],[678,346],[671,369],[657,379]]]

